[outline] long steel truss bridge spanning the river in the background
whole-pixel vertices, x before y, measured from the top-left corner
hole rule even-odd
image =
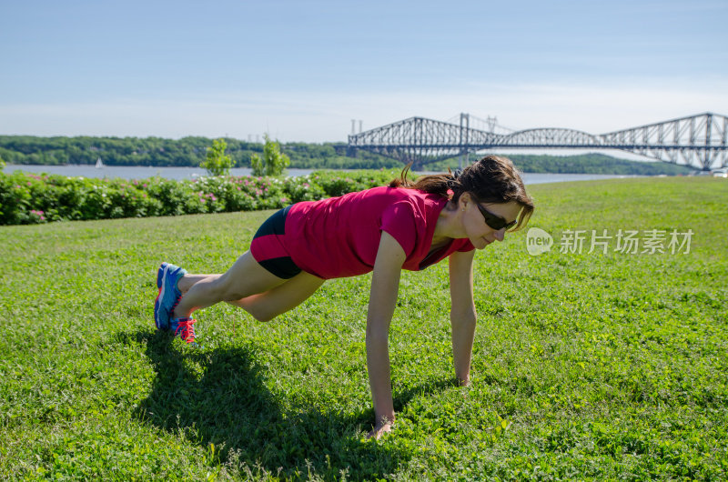
[[[364,150],[393,157],[415,167],[499,148],[619,149],[672,164],[703,170],[726,166],[728,117],[712,113],[593,135],[573,129],[536,128],[508,134],[470,127],[470,115],[460,124],[410,117],[349,136],[347,153]]]

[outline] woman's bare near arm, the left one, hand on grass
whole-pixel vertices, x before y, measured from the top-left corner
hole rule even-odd
[[[367,313],[367,369],[376,417],[376,425],[369,432],[369,437],[379,438],[382,432],[389,432],[394,421],[389,379],[389,323],[397,304],[399,273],[405,259],[402,246],[389,233],[382,231],[374,261]]]

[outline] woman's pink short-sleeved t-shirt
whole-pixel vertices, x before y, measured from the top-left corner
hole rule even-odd
[[[358,276],[374,269],[381,231],[386,231],[404,249],[402,267],[419,271],[454,251],[473,249],[470,240],[453,239],[428,256],[447,203],[440,195],[395,187],[297,203],[286,218],[285,246],[293,262],[312,275]]]

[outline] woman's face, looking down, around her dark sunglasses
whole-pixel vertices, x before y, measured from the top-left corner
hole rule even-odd
[[[516,220],[518,214],[521,212],[521,205],[515,201],[502,204],[481,203],[480,207],[485,211],[484,216],[478,206],[475,205],[472,197],[467,196],[465,199],[462,197],[458,203],[461,210],[462,227],[468,239],[470,239],[472,246],[475,246],[477,249],[482,249],[496,240],[502,241],[506,229],[508,229],[507,227],[494,229],[488,226],[486,216],[490,218],[491,223],[493,223],[493,219],[498,221],[498,218],[505,220],[506,223],[511,223]]]

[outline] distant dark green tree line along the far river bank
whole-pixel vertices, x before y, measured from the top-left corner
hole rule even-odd
[[[226,155],[232,167],[250,167],[251,158],[264,155],[264,144],[225,137]],[[213,140],[202,136],[181,139],[162,137],[93,136],[0,136],[0,159],[10,164],[62,166],[95,164],[106,166],[200,166],[206,160]],[[286,143],[281,152],[289,157],[290,167],[299,169],[380,169],[400,167],[389,157],[360,151],[346,156],[345,143]],[[475,156],[471,156],[474,158]],[[642,163],[602,154],[579,156],[509,155],[522,171],[533,173],[582,173],[623,175],[679,175],[691,168],[666,163]],[[425,165],[426,170],[443,171],[458,166],[457,157]]]

